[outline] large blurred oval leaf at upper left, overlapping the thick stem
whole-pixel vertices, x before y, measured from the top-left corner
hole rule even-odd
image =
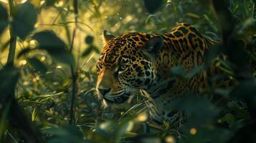
[[[25,39],[34,30],[34,24],[37,22],[37,11],[33,4],[26,2],[17,7],[13,18],[11,27],[14,34],[21,39]]]

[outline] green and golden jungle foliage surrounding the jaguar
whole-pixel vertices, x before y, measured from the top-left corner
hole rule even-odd
[[[0,0],[0,142],[256,142],[255,0]],[[179,22],[221,41],[228,88],[170,104],[180,129],[149,123],[145,97],[104,109],[95,61],[104,29],[163,34]],[[207,67],[206,67],[207,68]],[[179,71],[177,71],[179,73]]]

